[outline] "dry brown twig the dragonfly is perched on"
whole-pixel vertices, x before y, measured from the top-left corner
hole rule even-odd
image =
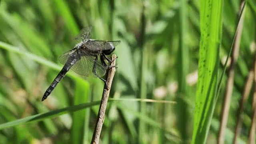
[[[96,125],[94,128],[94,132],[92,135],[91,144],[98,144],[99,140],[100,140],[100,132],[101,132],[101,129],[103,126],[104,118],[105,118],[105,111],[106,111],[106,107],[107,107],[107,103],[108,103],[108,96],[109,96],[112,80],[113,80],[114,74],[116,72],[116,68],[115,68],[116,55],[115,54],[112,55],[111,60],[113,60],[113,62],[111,62],[110,66],[113,66],[113,67],[110,67],[107,71],[107,79],[106,79],[106,83],[104,85],[104,89],[103,89],[103,93],[102,93],[100,108],[99,108],[98,117],[96,120]]]

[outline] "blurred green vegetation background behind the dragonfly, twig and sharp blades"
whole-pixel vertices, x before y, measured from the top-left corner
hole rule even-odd
[[[225,143],[232,143],[239,100],[254,63],[256,2],[250,0],[247,5]],[[239,10],[239,1],[224,0],[220,71]],[[115,100],[108,103],[100,143],[190,143],[200,45],[198,0],[0,1],[0,124],[101,99],[104,83],[100,79],[82,78],[70,71],[41,102],[61,69],[58,57],[74,47],[76,34],[89,25],[93,26],[93,39],[121,40],[114,52],[118,69],[110,97]],[[186,57],[179,53],[181,35]],[[224,76],[208,144],[218,139],[226,79]],[[180,83],[184,80],[183,89]],[[239,143],[248,140],[252,96],[251,91],[244,105]],[[119,98],[123,100],[116,100]],[[166,101],[139,102],[136,98]],[[90,143],[96,105],[1,128],[0,143]]]

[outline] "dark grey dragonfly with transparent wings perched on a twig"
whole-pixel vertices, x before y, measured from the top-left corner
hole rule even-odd
[[[61,64],[64,64],[62,70],[53,80],[52,84],[47,88],[42,101],[45,100],[62,80],[68,70],[73,70],[77,74],[83,76],[94,75],[106,83],[102,78],[106,74],[108,66],[106,62],[112,62],[107,56],[110,55],[121,41],[104,41],[90,39],[92,26],[85,27],[80,31],[75,40],[79,43],[72,50],[65,52],[59,57]],[[100,57],[100,62],[98,62]]]

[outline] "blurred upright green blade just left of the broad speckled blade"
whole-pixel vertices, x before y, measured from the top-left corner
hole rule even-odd
[[[188,104],[184,100],[184,97],[188,97],[186,76],[188,74],[189,66],[189,55],[188,47],[186,46],[186,34],[187,32],[187,13],[186,13],[186,0],[181,0],[181,6],[179,9],[179,48],[177,56],[177,79],[178,79],[178,96],[177,101],[177,120],[178,120],[178,130],[180,131],[180,136],[182,140],[188,139]]]

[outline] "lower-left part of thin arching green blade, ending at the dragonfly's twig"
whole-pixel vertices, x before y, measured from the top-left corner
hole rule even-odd
[[[28,116],[26,118],[21,118],[19,120],[14,120],[12,122],[7,122],[7,123],[4,123],[4,124],[0,124],[0,129],[9,128],[9,127],[17,126],[17,125],[20,125],[20,124],[27,124],[29,122],[37,122],[37,121],[40,121],[40,120],[44,120],[46,118],[53,118],[53,117],[56,117],[56,116],[59,116],[59,115],[62,115],[62,114],[66,114],[68,112],[76,112],[78,110],[82,110],[84,108],[90,108],[92,106],[96,106],[96,105],[99,105],[99,104],[100,104],[100,101],[90,102],[90,103],[85,103],[85,104],[79,104],[79,105],[76,105],[76,106],[70,106],[70,107],[67,107],[67,108],[62,108],[62,109],[59,109],[59,110],[52,110],[50,112],[46,112],[46,113],[42,113],[42,114],[36,114],[34,116]]]

